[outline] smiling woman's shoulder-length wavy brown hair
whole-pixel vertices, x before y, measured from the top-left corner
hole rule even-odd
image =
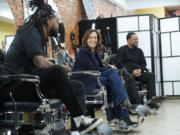
[[[84,34],[84,36],[83,36],[83,38],[82,38],[82,47],[89,49],[89,46],[88,46],[88,44],[87,44],[87,40],[88,40],[89,36],[91,35],[91,33],[93,33],[93,32],[96,32],[97,38],[98,38],[97,45],[96,45],[96,47],[95,47],[95,51],[96,51],[96,52],[99,52],[99,51],[101,50],[101,48],[102,48],[102,36],[101,36],[101,34],[100,34],[97,30],[95,30],[95,29],[88,29],[88,30],[86,31],[86,33]]]

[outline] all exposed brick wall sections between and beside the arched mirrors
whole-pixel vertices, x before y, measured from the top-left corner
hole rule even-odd
[[[15,30],[24,23],[23,0],[7,0],[10,9],[14,15]],[[62,17],[65,27],[65,44],[71,50],[70,33],[75,34],[75,43],[78,44],[78,22],[86,19],[86,13],[82,0],[54,0]],[[113,5],[106,0],[93,0],[93,6],[96,17],[99,11],[104,17],[110,17],[111,14],[119,16],[126,14],[126,11]]]

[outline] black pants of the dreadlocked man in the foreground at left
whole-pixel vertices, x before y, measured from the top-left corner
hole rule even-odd
[[[41,78],[40,88],[47,98],[60,98],[72,117],[84,113],[67,74],[61,66],[55,65],[47,68],[39,76]]]

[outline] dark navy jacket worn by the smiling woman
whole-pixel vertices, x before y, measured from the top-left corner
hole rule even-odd
[[[95,56],[98,59],[99,66],[96,63]],[[74,64],[74,67],[72,71],[85,71],[85,70],[95,70],[103,72],[107,68],[110,68],[109,66],[103,66],[100,57],[98,54],[93,54],[89,49],[87,48],[81,48],[76,62]],[[93,90],[98,87],[97,78],[92,75],[73,75],[72,79],[79,80],[84,83],[85,88],[87,91]]]

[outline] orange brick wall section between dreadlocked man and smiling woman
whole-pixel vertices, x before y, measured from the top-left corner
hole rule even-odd
[[[54,0],[62,17],[65,27],[65,44],[71,51],[70,33],[75,34],[75,43],[78,44],[78,23],[85,17],[81,0]]]

